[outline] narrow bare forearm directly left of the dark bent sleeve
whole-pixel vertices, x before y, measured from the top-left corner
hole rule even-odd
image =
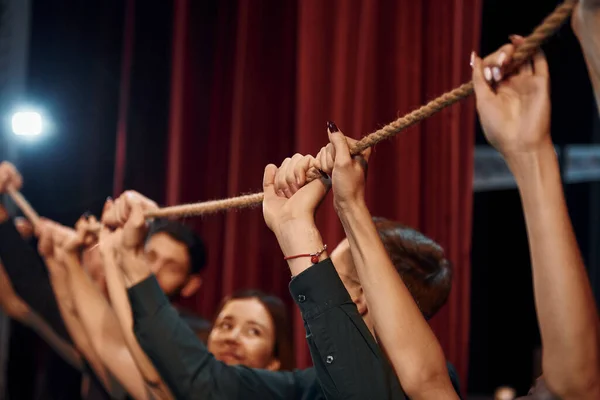
[[[146,382],[164,392],[164,396],[161,397],[172,398],[169,389],[163,383],[150,358],[144,353],[133,333],[133,316],[123,274],[118,269],[113,257],[104,257],[103,260],[110,303],[119,321],[127,347]]]

